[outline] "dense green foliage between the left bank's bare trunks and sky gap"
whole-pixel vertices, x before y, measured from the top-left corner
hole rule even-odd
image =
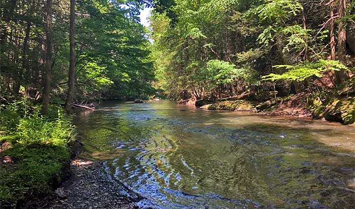
[[[135,12],[130,11],[138,8],[121,4],[95,0],[80,4],[80,10],[89,16],[78,21],[78,40],[83,43],[78,51],[79,86],[94,94],[109,91],[115,97],[138,97],[145,89],[150,91],[154,76],[149,60],[150,43]]]

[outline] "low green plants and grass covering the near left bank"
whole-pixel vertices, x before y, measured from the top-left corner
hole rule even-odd
[[[70,159],[74,126],[60,107],[46,116],[41,107],[18,100],[0,109],[0,205],[18,207],[45,195],[61,180]]]

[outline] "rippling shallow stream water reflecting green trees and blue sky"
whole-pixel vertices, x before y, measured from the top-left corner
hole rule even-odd
[[[354,127],[108,102],[76,119],[83,157],[154,208],[353,208]]]

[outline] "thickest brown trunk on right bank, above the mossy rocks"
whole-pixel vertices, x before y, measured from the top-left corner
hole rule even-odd
[[[340,19],[345,16],[345,10],[346,10],[346,0],[339,0],[338,15]],[[341,62],[346,61],[345,42],[346,42],[346,29],[344,23],[340,21],[338,26],[338,57]],[[337,71],[335,75],[338,84],[343,83],[349,78],[349,75],[345,70]]]

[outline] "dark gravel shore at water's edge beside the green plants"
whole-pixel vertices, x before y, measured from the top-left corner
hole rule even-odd
[[[122,195],[120,185],[109,177],[101,162],[74,159],[71,177],[55,191],[48,209],[138,208],[134,199]]]

